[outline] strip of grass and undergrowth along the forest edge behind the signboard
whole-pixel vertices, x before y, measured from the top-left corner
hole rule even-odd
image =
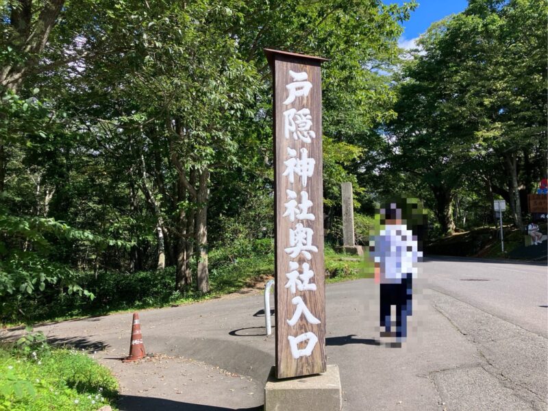
[[[99,316],[113,312],[162,308],[212,299],[237,292],[242,288],[264,284],[274,275],[273,240],[256,240],[250,245],[220,247],[210,251],[210,292],[194,289],[175,291],[175,268],[138,273],[87,274],[83,286],[95,295],[90,301],[77,295],[46,290],[20,301],[0,303],[0,320],[4,325],[62,321],[83,316]],[[369,277],[364,258],[336,253],[325,247],[327,283]],[[21,310],[21,311],[19,311]],[[22,318],[20,312],[25,312]]]

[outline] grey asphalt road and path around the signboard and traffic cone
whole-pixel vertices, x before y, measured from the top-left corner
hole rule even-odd
[[[372,280],[327,286],[327,362],[339,366],[343,409],[548,410],[547,267],[448,258],[421,269],[401,348],[378,340]],[[172,358],[137,364],[118,360],[131,314],[41,329],[102,348],[97,356],[121,381],[122,410],[258,410],[274,362],[261,309],[262,295],[244,295],[141,312],[147,351]]]

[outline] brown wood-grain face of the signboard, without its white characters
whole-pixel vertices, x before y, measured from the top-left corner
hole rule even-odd
[[[321,69],[318,60],[300,58],[294,55],[275,55],[273,62],[274,71],[274,153],[275,153],[275,310],[276,310],[276,375],[278,378],[297,377],[312,375],[326,371],[325,358],[325,281],[323,261],[323,152],[322,152],[322,128],[321,128]],[[297,97],[295,101],[284,105],[283,101],[288,97],[286,84],[293,81],[289,70],[301,73],[308,73],[308,81],[312,83],[312,89],[307,97]],[[284,136],[284,114],[285,110],[295,108],[301,110],[308,108],[312,116],[312,130],[316,134],[310,143],[294,140],[292,137],[286,139]],[[297,151],[297,158],[301,157],[300,149],[308,149],[308,157],[314,158],[316,164],[312,177],[308,178],[306,187],[303,187],[301,177],[295,175],[295,182],[291,184],[287,176],[282,175],[286,170],[284,164],[288,160],[287,147]],[[298,220],[291,222],[288,217],[282,216],[288,202],[286,189],[297,192],[297,202],[301,202],[300,192],[308,192],[308,199],[312,201],[312,212],[314,221]],[[284,249],[290,247],[290,228],[295,229],[297,223],[304,227],[310,227],[314,231],[312,245],[316,246],[318,252],[311,251],[312,259],[306,260],[303,254],[296,258],[290,258]],[[302,264],[308,262],[310,269],[314,271],[314,277],[310,283],[316,284],[316,290],[297,290],[292,294],[289,288],[285,288],[288,280],[286,273],[290,272],[289,262],[299,263],[299,273],[302,273]],[[308,323],[304,315],[297,324],[290,326],[287,323],[291,319],[296,306],[291,302],[293,297],[300,296],[310,312],[319,319],[321,323]],[[308,357],[294,359],[291,355],[288,336],[299,336],[305,332],[313,332],[318,337],[318,343],[312,354]],[[299,345],[303,349],[305,343]]]

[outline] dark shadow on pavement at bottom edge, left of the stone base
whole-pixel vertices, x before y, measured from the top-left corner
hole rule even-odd
[[[216,406],[202,406],[186,402],[172,401],[171,399],[136,397],[135,395],[120,395],[118,406],[121,411],[262,411],[262,406],[253,408],[225,408]]]

